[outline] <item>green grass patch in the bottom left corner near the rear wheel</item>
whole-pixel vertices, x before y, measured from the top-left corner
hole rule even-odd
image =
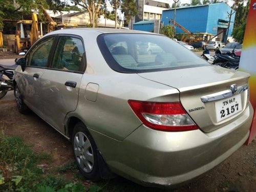
[[[35,154],[22,138],[6,136],[0,121],[0,191],[85,191],[79,183],[48,175],[47,169],[39,165],[49,161],[48,154]]]

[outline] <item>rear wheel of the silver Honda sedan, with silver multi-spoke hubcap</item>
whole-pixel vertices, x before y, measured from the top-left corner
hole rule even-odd
[[[72,147],[75,162],[84,177],[91,181],[98,181],[100,165],[96,144],[82,122],[78,122],[72,133]]]

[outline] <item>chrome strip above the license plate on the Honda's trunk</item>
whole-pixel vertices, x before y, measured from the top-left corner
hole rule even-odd
[[[231,90],[221,91],[218,93],[205,95],[205,96],[201,97],[201,101],[205,103],[205,102],[211,102],[211,101],[217,101],[220,99],[225,99],[225,98],[231,97],[232,95],[240,94],[248,89],[249,89],[248,84],[244,84],[243,86],[238,87],[237,91],[234,93],[232,93]]]

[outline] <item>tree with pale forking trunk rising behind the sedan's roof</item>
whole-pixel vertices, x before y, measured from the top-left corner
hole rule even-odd
[[[100,9],[104,7],[104,0],[72,0],[72,3],[79,5],[89,12],[91,27],[95,27],[95,20],[98,18]]]

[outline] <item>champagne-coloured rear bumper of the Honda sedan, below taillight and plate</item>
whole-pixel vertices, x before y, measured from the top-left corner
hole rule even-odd
[[[123,141],[100,137],[96,143],[111,170],[145,186],[174,186],[215,167],[249,136],[253,110],[210,133],[161,132],[141,125]],[[97,139],[99,141],[99,139]]]

